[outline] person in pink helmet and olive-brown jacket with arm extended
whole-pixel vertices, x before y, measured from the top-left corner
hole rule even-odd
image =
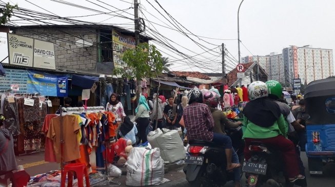
[[[237,128],[242,125],[242,122],[231,122],[226,118],[226,115],[216,108],[219,104],[219,96],[213,91],[207,91],[204,95],[204,103],[209,107],[210,112],[213,116],[214,120],[214,133],[220,133],[226,135],[225,127],[227,128]],[[232,153],[232,162],[233,163],[240,163],[239,156],[237,153],[233,150]],[[235,187],[241,186],[241,170],[236,169],[234,170],[234,181],[235,181]]]

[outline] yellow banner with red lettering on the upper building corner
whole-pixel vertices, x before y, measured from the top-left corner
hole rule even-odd
[[[127,67],[127,64],[122,61],[122,54],[128,49],[135,49],[135,38],[121,35],[120,33],[113,30],[112,48],[114,66],[119,68]]]

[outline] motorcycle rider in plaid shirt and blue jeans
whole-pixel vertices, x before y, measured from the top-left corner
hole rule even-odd
[[[240,163],[232,163],[232,145],[229,136],[213,133],[214,120],[209,107],[203,103],[203,95],[199,88],[189,91],[188,106],[184,108],[183,118],[187,129],[188,140],[201,139],[220,144],[225,149],[227,159],[227,170],[231,171],[241,167]]]

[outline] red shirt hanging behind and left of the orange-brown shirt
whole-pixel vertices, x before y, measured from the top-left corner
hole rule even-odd
[[[42,131],[45,135],[48,134],[51,119],[55,118],[56,114],[48,114],[44,118],[44,123],[42,127]],[[45,138],[45,151],[44,151],[44,160],[49,162],[56,162],[56,155],[53,152],[53,141],[50,138]]]

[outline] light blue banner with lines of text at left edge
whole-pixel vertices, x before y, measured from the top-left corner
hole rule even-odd
[[[16,93],[27,93],[27,70],[5,68],[5,72],[6,76],[0,76],[0,90],[15,88]]]

